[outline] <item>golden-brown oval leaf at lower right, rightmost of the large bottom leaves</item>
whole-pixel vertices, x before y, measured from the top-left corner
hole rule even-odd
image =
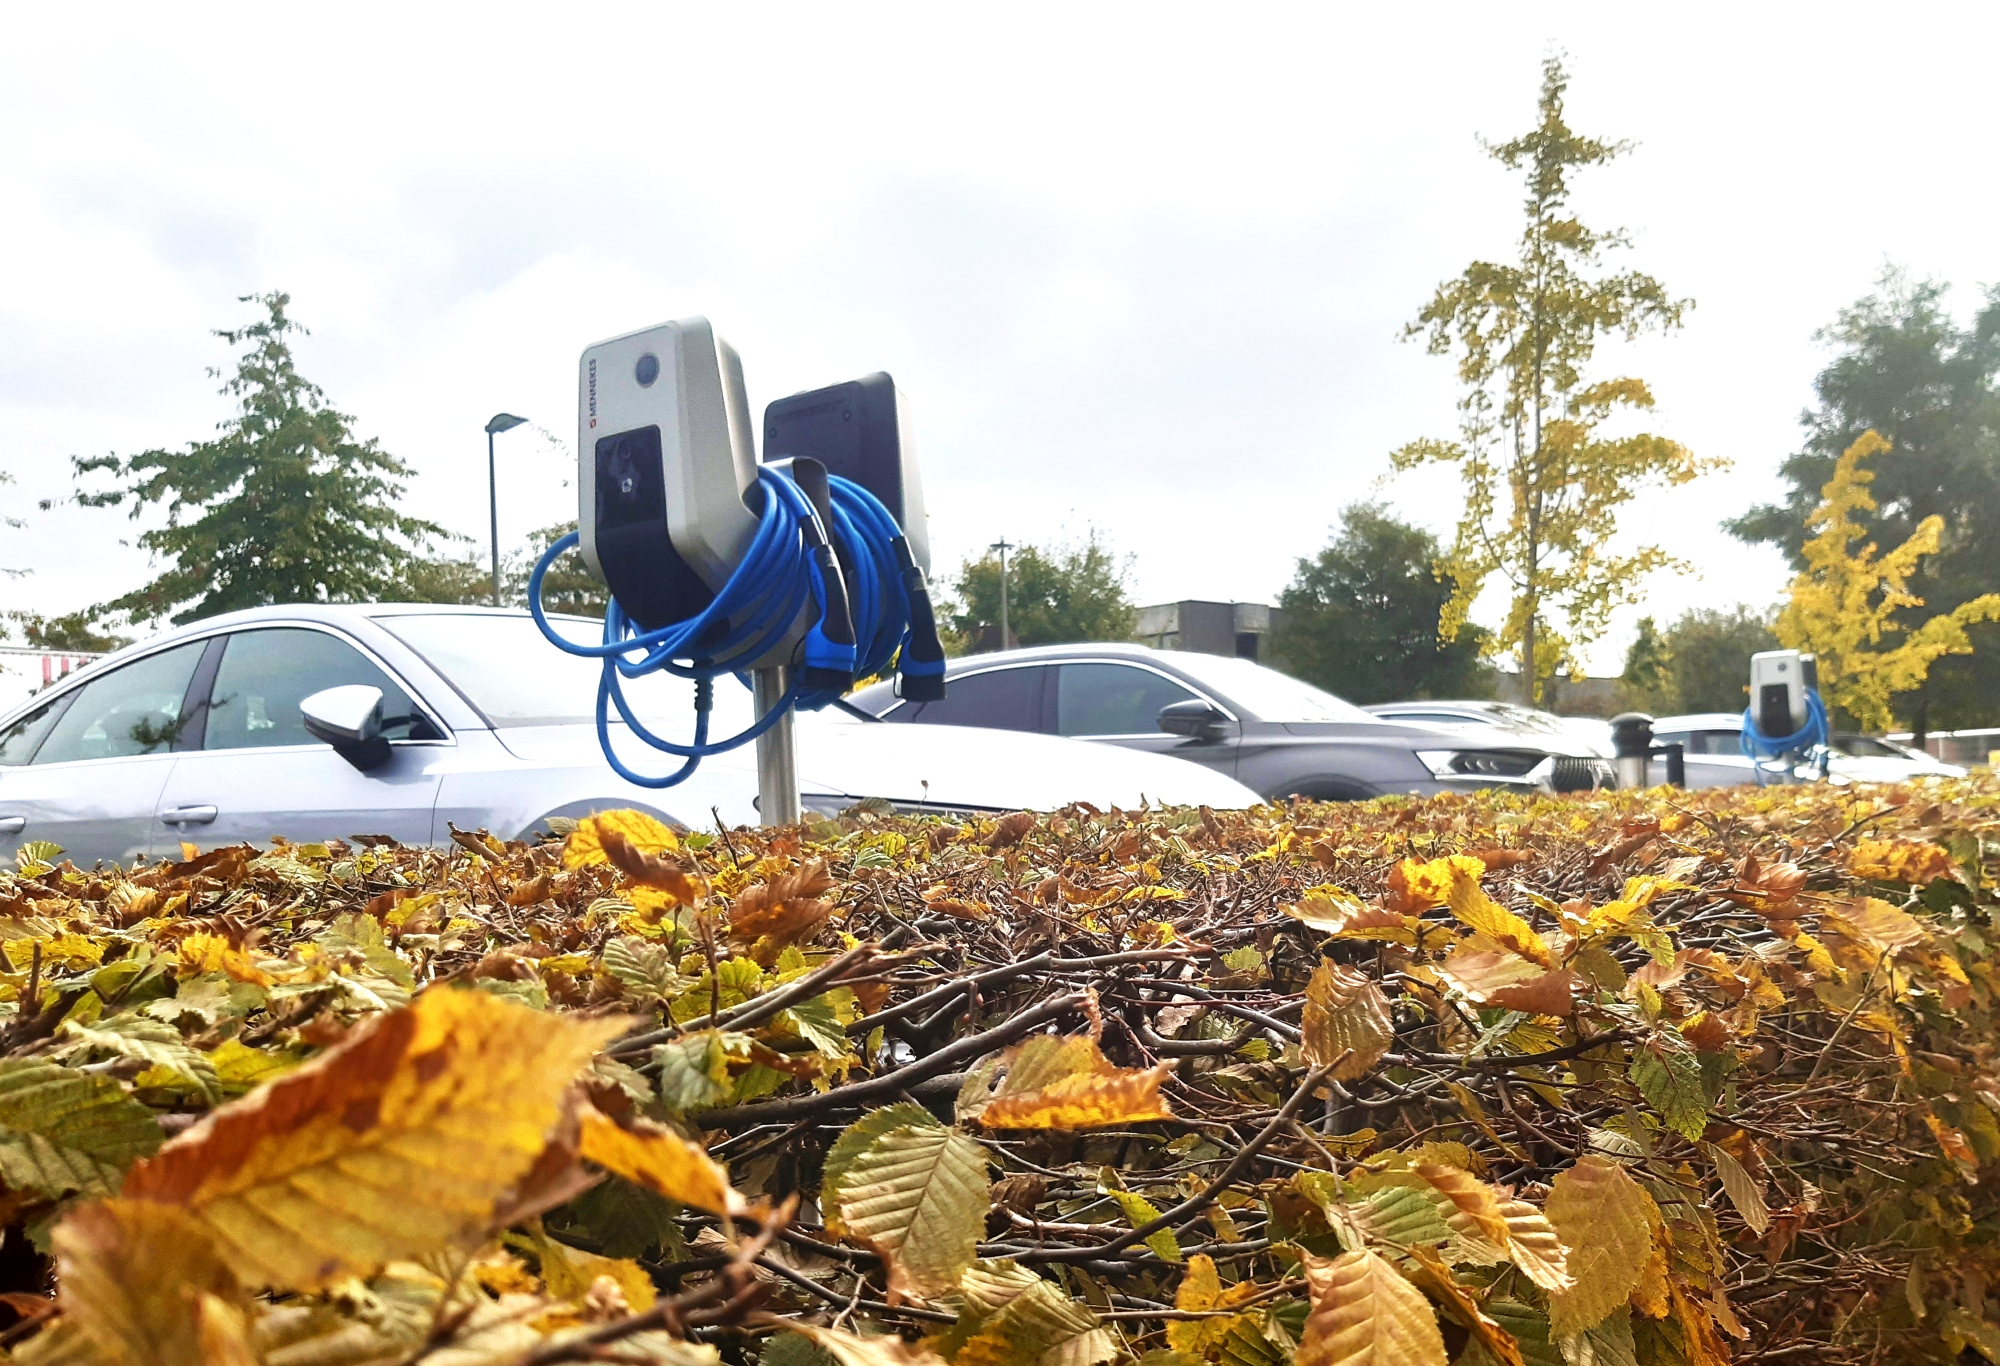
[[[1596,1328],[1630,1298],[1652,1258],[1660,1210],[1620,1162],[1590,1154],[1556,1176],[1548,1222],[1576,1278],[1570,1290],[1548,1296],[1550,1330],[1566,1338]]]

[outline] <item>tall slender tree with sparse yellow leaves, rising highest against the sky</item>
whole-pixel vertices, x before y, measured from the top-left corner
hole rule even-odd
[[[1586,228],[1570,212],[1570,176],[1630,150],[1570,130],[1560,58],[1542,64],[1540,122],[1494,160],[1524,170],[1526,228],[1514,262],[1472,262],[1406,328],[1434,356],[1456,354],[1464,384],[1458,440],[1416,440],[1394,452],[1398,470],[1458,468],[1466,508],[1442,570],[1452,596],[1438,616],[1458,636],[1474,598],[1496,574],[1510,594],[1488,654],[1512,652],[1534,698],[1610,614],[1638,598],[1640,580],[1682,568],[1658,546],[1608,550],[1618,510],[1642,490],[1684,484],[1722,462],[1700,460],[1664,436],[1602,436],[1620,410],[1652,408],[1644,380],[1590,380],[1598,338],[1678,328],[1688,300],[1646,274],[1588,274],[1624,232]],[[1560,622],[1560,624],[1558,624]]]

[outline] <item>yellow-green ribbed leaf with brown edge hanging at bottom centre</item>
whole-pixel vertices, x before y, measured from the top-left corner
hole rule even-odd
[[[840,1178],[840,1222],[882,1256],[890,1296],[956,1286],[990,1206],[986,1148],[936,1120],[888,1130]]]

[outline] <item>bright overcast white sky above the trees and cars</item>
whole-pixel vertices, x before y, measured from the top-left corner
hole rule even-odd
[[[1570,122],[1638,150],[1586,222],[1696,300],[1654,430],[1730,474],[1626,526],[1700,566],[1646,610],[1768,602],[1718,520],[1776,492],[1812,332],[1884,262],[2000,280],[1992,70],[1962,6],[16,6],[0,50],[0,468],[206,436],[212,328],[288,290],[302,370],[484,552],[488,414],[574,442],[576,354],[706,314],[752,404],[890,370],[940,572],[1102,530],[1140,602],[1270,600],[1344,504],[1448,532],[1456,426],[1398,340],[1504,256],[1520,184],[1478,136]],[[502,544],[574,514],[568,456],[502,436]],[[12,604],[136,586],[122,512],[0,540]],[[1616,670],[1630,622],[1592,656]]]

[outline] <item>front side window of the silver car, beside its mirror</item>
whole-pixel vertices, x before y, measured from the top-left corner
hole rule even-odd
[[[204,750],[252,750],[272,744],[318,744],[298,704],[322,688],[368,684],[382,690],[382,734],[434,740],[436,730],[376,664],[324,630],[274,626],[240,630],[222,650],[208,694]]]

